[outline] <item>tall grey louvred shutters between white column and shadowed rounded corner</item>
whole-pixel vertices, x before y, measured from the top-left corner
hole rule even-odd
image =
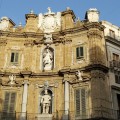
[[[76,118],[87,118],[87,91],[85,88],[75,90],[75,111]]]

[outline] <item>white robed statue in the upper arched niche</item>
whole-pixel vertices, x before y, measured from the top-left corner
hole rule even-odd
[[[53,51],[46,48],[43,52],[43,70],[53,69]]]

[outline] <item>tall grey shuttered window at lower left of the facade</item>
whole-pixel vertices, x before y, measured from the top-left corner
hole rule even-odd
[[[5,92],[2,119],[15,120],[16,93]]]

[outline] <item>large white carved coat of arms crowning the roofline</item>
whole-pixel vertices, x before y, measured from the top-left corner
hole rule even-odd
[[[54,13],[51,11],[51,8],[48,7],[47,13],[39,14],[38,28],[44,33],[59,31],[61,28],[61,12]]]

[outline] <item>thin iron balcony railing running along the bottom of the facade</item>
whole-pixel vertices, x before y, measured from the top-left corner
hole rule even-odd
[[[94,108],[86,110],[85,114],[77,114],[74,111],[69,111],[69,120],[120,120],[120,110],[112,110],[107,108]],[[5,113],[0,112],[0,120],[62,120],[65,115],[65,111],[56,111],[52,114],[40,114],[40,113]]]

